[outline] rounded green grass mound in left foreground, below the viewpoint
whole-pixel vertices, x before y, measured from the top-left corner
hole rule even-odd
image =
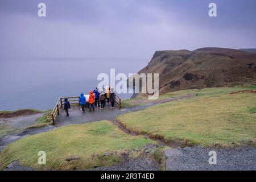
[[[149,143],[141,136],[124,133],[110,121],[71,125],[32,135],[9,144],[0,156],[1,168],[14,160],[36,169],[88,169],[110,166],[122,160],[123,152],[133,153]],[[46,152],[46,165],[38,164],[38,152]],[[108,155],[105,155],[108,152]],[[77,156],[78,160],[66,159]]]

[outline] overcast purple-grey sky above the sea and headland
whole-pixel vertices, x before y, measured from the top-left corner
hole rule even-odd
[[[38,17],[38,3],[47,17]],[[210,2],[217,17],[208,16]],[[256,48],[255,0],[1,0],[1,57],[140,57]],[[0,57],[0,58],[1,58]]]

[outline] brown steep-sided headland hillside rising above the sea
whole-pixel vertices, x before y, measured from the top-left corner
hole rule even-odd
[[[138,73],[159,73],[160,93],[256,85],[256,54],[228,48],[156,51],[147,67]]]

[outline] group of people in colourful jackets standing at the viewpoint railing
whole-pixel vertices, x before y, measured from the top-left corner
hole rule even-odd
[[[67,117],[69,117],[68,109],[70,109],[70,104],[67,98],[64,100],[64,110],[67,113]],[[81,106],[82,112],[85,113],[85,103],[86,98],[83,93],[80,94],[79,97],[79,105]],[[106,89],[98,90],[98,88],[90,91],[89,98],[89,111],[95,111],[96,107],[100,107],[100,109],[105,109],[106,105],[110,105],[110,109],[114,109],[115,104],[115,92],[113,88],[107,87]]]

